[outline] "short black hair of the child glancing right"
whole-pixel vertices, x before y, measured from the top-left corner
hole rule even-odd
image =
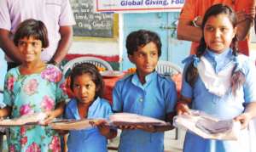
[[[132,31],[126,38],[126,49],[129,55],[132,55],[138,48],[144,47],[149,42],[154,42],[158,50],[158,57],[161,55],[162,43],[160,37],[154,31],[139,30]]]

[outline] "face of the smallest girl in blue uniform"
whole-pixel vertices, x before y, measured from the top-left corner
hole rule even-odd
[[[74,78],[73,93],[80,103],[91,104],[94,101],[96,84],[92,82],[90,74]]]

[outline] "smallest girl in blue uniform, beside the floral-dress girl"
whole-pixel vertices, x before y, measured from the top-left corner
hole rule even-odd
[[[111,106],[102,99],[102,76],[95,65],[82,63],[75,65],[70,75],[70,87],[75,98],[71,99],[65,110],[67,119],[108,118]],[[116,130],[106,127],[104,121],[96,122],[97,127],[81,131],[72,130],[67,138],[70,152],[107,152],[107,138],[114,138]]]

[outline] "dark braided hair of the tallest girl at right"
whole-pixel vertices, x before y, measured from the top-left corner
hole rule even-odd
[[[218,14],[226,14],[228,16],[228,18],[230,19],[230,23],[233,25],[233,27],[234,28],[236,27],[237,19],[236,19],[236,14],[235,14],[234,10],[232,8],[230,8],[229,6],[219,3],[219,4],[212,5],[212,7],[207,9],[207,12],[204,15],[204,18],[202,20],[202,25],[201,25],[202,32],[204,32],[204,27],[207,23],[207,20],[212,16],[217,16]],[[195,54],[196,57],[198,57],[198,58],[200,58],[205,53],[206,48],[207,48],[207,44],[205,42],[203,35],[204,34],[202,34],[200,45],[197,48],[197,51]],[[230,44],[230,48],[232,48],[233,55],[235,55],[235,56],[237,56],[237,53],[238,53],[237,41],[238,41],[237,36],[235,36]],[[186,82],[189,83],[190,86],[193,87],[195,85],[197,77],[198,77],[198,70],[195,67],[194,63],[191,62],[188,66],[186,73],[185,73],[185,80],[186,80]],[[232,78],[233,77],[234,76],[232,76]]]

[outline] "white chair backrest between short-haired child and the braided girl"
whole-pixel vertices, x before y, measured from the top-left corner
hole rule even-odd
[[[155,70],[162,75],[172,76],[177,73],[182,73],[183,69],[178,65],[174,65],[170,61],[160,60],[155,68]]]

